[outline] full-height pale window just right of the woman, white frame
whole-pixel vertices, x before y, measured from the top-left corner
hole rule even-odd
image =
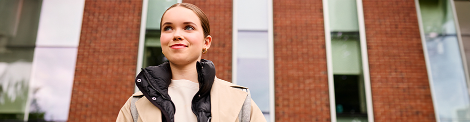
[[[269,122],[269,0],[234,0],[233,82],[248,87]]]

